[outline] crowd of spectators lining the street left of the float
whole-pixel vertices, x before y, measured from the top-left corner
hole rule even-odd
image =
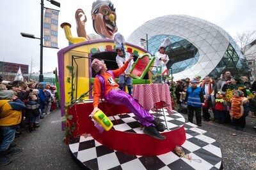
[[[4,85],[0,76],[0,166],[21,152],[13,140],[22,131],[36,132],[40,119],[58,107],[56,87],[45,83],[13,81]]]

